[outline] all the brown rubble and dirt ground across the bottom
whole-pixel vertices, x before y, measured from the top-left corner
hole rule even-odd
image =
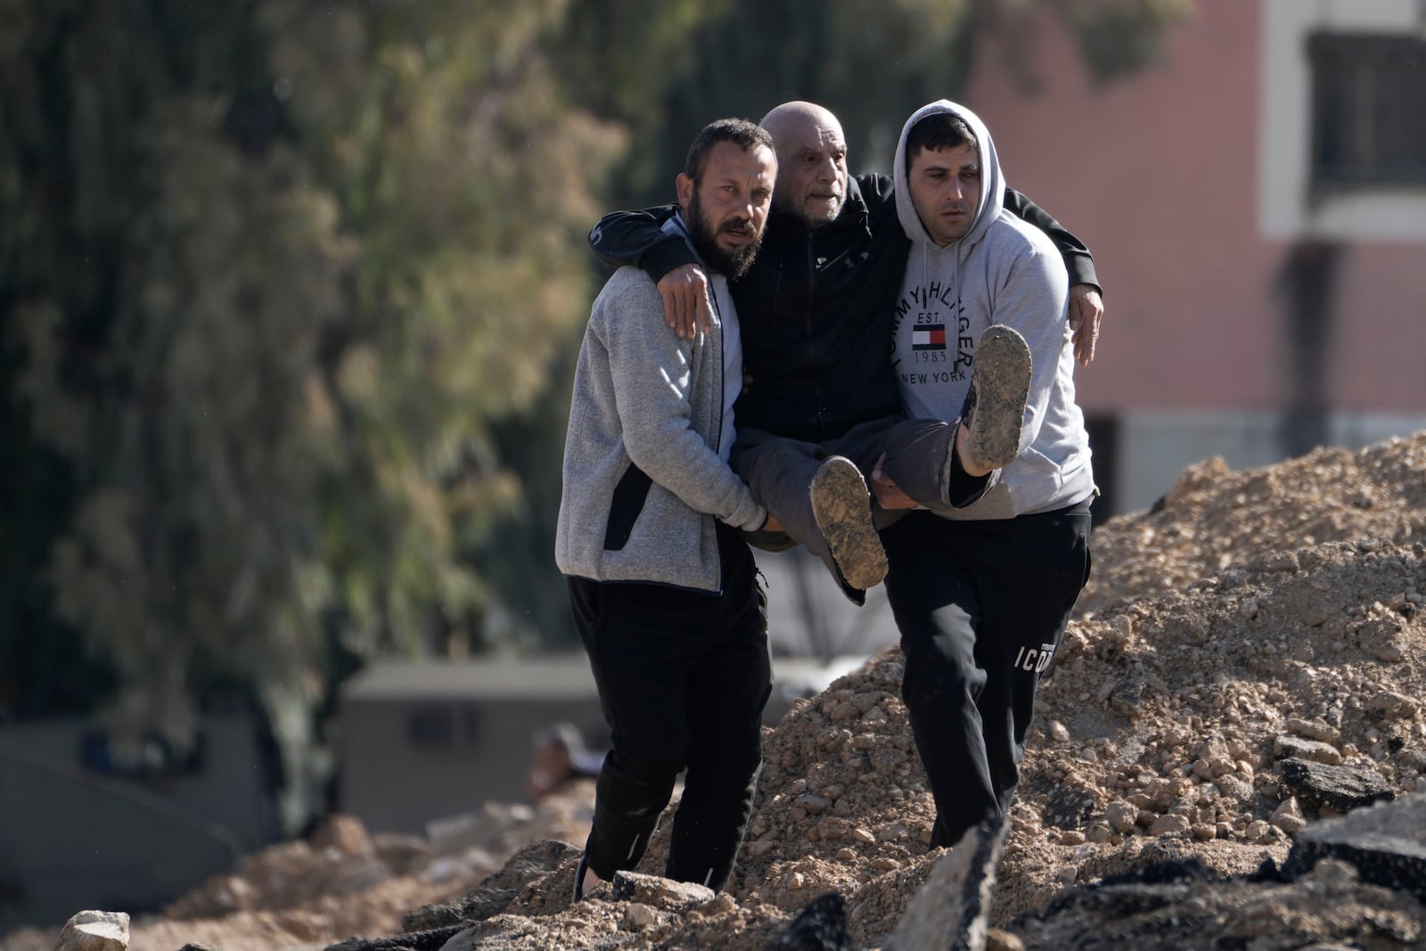
[[[506,830],[481,847],[489,867],[462,853],[438,883],[449,848],[334,830],[251,857],[227,897],[210,883],[134,922],[128,947],[891,951],[935,927],[995,948],[1426,947],[1423,526],[1426,433],[1242,473],[1209,461],[1154,510],[1097,529],[1095,580],[1047,672],[1017,803],[950,853],[928,851],[934,810],[888,649],[766,734],[723,894],[656,877],[665,821],[642,875],[570,905],[582,781],[540,804],[565,803],[569,823]],[[264,875],[304,847],[332,888],[378,865],[385,878],[319,898],[288,887],[302,897],[284,911],[232,898],[235,881],[271,894]],[[394,883],[425,891],[404,893],[385,927],[331,911],[289,927],[322,903],[374,908]]]

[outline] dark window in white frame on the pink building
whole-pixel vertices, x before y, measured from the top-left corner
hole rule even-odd
[[[1426,187],[1426,40],[1313,33],[1312,188]]]

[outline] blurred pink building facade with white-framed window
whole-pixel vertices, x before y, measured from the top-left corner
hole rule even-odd
[[[1198,0],[1159,63],[1097,84],[1041,11],[1007,24],[1031,37],[1037,91],[1002,38],[977,50],[965,101],[1007,180],[1089,244],[1105,285],[1077,386],[1109,513],[1212,455],[1248,468],[1426,428],[1423,17]]]

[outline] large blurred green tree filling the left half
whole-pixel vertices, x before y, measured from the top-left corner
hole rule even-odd
[[[563,426],[539,399],[568,399],[552,361],[626,141],[552,66],[569,10],[0,1],[0,548],[29,562],[0,647],[53,609],[113,666],[135,749],[193,741],[195,670],[240,674],[289,830],[329,639],[491,647],[472,559],[553,515]],[[502,422],[522,418],[548,432]],[[530,499],[512,449],[545,471]],[[548,565],[509,546],[536,548]],[[543,570],[506,582],[560,603]]]

